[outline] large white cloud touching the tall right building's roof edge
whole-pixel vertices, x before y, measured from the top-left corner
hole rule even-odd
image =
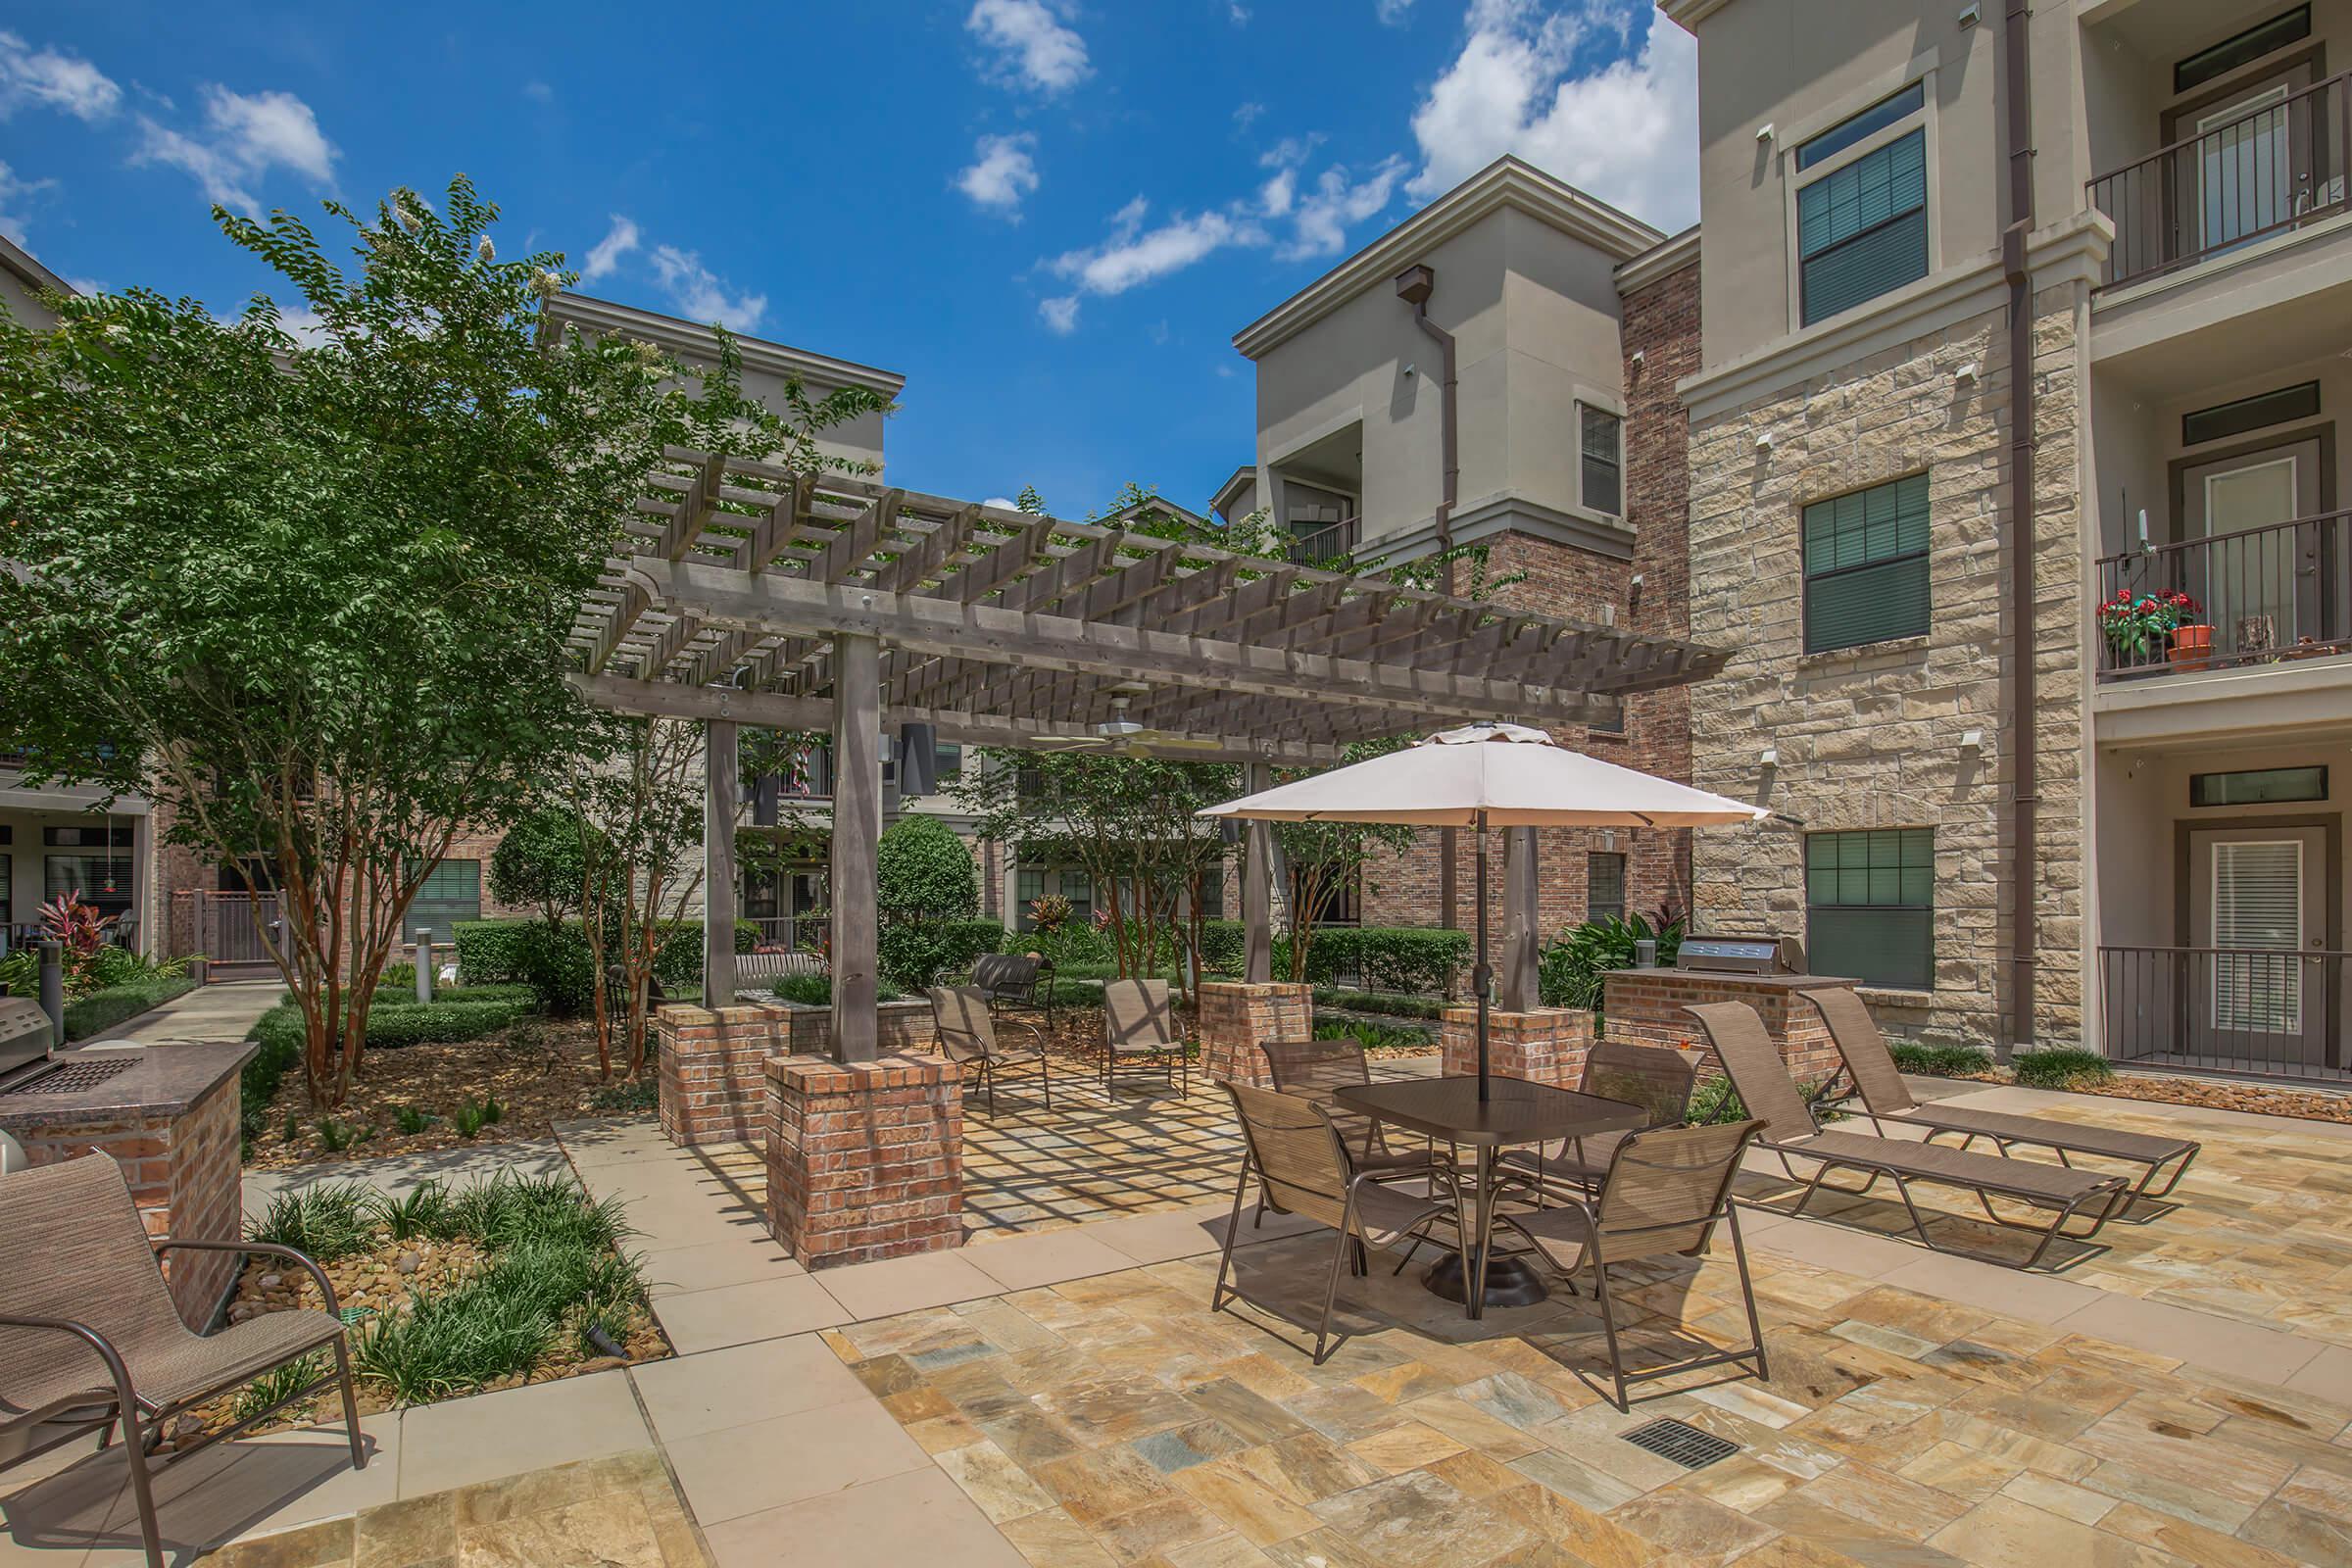
[[[1430,200],[1503,153],[1663,228],[1698,219],[1698,45],[1649,19],[1639,54],[1571,75],[1578,45],[1632,14],[1609,0],[1541,14],[1526,0],[1472,0],[1461,54],[1414,110]]]

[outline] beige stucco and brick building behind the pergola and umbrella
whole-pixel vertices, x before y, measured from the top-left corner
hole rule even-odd
[[[1404,564],[1484,545],[1498,604],[1689,630],[1689,465],[1677,381],[1698,369],[1698,235],[1656,228],[1503,158],[1235,334],[1256,367],[1256,461],[1218,487],[1294,559]],[[1449,386],[1451,376],[1451,386]],[[1458,578],[1472,588],[1468,569]],[[1562,736],[1689,776],[1689,696],[1642,693]],[[1470,919],[1470,835],[1378,856],[1327,919]],[[1545,830],[1543,924],[1689,905],[1686,832]]]

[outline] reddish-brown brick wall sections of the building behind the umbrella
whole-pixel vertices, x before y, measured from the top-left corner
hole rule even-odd
[[[1700,367],[1698,343],[1698,266],[1623,296],[1625,322],[1621,350],[1625,357],[1625,522],[1632,527],[1632,559],[1597,550],[1576,550],[1526,534],[1503,534],[1491,541],[1489,571],[1524,571],[1526,581],[1496,592],[1498,604],[1599,621],[1602,607],[1616,607],[1618,625],[1663,637],[1691,635],[1689,604],[1689,409],[1675,393],[1682,376]],[[1642,364],[1632,362],[1635,353]],[[1632,578],[1642,576],[1635,592]],[[1686,689],[1644,691],[1625,703],[1625,733],[1599,729],[1557,731],[1564,745],[1642,769],[1661,778],[1691,776],[1691,698]],[[1461,924],[1472,922],[1470,835],[1456,837]],[[1536,835],[1541,865],[1541,917],[1550,936],[1588,914],[1588,860],[1592,851],[1625,856],[1625,907],[1653,912],[1661,905],[1691,905],[1691,835],[1689,830],[1618,830],[1609,839],[1595,830],[1562,827]],[[1489,844],[1494,856],[1489,917],[1501,931],[1503,865],[1501,835]],[[1435,926],[1439,922],[1437,832],[1414,837],[1399,856],[1376,853],[1364,867],[1364,922],[1376,926]],[[1468,985],[1468,976],[1463,978]]]

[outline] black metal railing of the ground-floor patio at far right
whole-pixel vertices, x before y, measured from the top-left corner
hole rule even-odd
[[[2321,947],[2100,947],[2107,1058],[2343,1079],[2347,957]]]

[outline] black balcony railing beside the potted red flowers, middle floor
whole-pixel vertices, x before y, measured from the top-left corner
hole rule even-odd
[[[2103,630],[2100,679],[2343,654],[2352,649],[2352,512],[2107,555],[2100,604],[2117,592],[2185,592],[2197,602],[2190,628],[2209,630],[2136,639]]]

